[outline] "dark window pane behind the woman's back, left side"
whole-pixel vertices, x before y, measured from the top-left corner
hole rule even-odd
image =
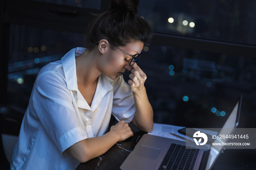
[[[82,34],[11,24],[7,105],[25,112],[39,70],[84,46]]]

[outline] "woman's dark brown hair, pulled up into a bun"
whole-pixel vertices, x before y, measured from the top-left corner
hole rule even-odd
[[[97,15],[86,31],[87,49],[92,50],[101,39],[114,46],[126,46],[134,41],[148,43],[152,30],[137,14],[139,0],[110,0],[109,10]]]

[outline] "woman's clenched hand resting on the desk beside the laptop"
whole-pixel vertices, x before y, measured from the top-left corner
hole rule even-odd
[[[119,121],[116,125],[112,126],[110,128],[110,132],[116,132],[120,136],[118,142],[133,136],[131,128],[123,120]]]

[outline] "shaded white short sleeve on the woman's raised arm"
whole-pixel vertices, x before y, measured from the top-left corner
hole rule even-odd
[[[113,89],[112,114],[118,121],[130,123],[135,115],[135,104],[132,91],[123,76],[118,76],[114,81]]]

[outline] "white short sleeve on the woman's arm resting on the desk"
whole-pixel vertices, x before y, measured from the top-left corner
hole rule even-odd
[[[39,121],[61,153],[87,138],[76,115],[65,78],[59,73],[46,71],[37,77],[32,102]]]

